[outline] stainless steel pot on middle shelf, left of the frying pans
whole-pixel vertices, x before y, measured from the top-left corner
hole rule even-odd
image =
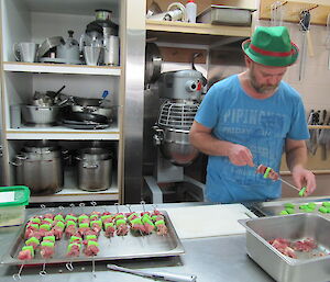
[[[22,116],[28,124],[51,125],[59,120],[61,106],[22,105]]]

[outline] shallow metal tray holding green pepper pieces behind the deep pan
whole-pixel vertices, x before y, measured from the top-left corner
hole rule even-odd
[[[307,201],[308,200],[308,201]],[[280,201],[272,201],[272,202],[263,202],[263,203],[256,203],[253,206],[253,208],[257,210],[260,213],[262,213],[265,216],[274,216],[279,215],[279,213],[285,210],[286,203],[292,203],[295,205],[295,213],[304,213],[304,210],[299,208],[300,205],[305,205],[308,203],[315,203],[316,208],[312,212],[308,212],[311,214],[318,214],[320,216],[323,216],[324,218],[330,219],[330,214],[323,214],[319,212],[319,207],[322,205],[323,202],[330,202],[330,199],[319,199],[319,198],[310,198],[310,199],[286,199]]]

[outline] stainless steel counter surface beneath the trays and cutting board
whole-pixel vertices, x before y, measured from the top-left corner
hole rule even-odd
[[[161,206],[158,206],[158,208],[161,210]],[[28,213],[35,212],[35,210],[28,210]],[[19,229],[19,227],[0,228],[0,258],[4,253],[8,253],[11,241],[15,238]],[[113,262],[119,266],[147,271],[196,274],[198,282],[274,281],[248,257],[244,235],[186,239],[182,240],[182,242],[186,253],[180,257],[121,260]],[[46,264],[46,277],[38,274],[42,267],[24,267],[21,281],[152,281],[146,278],[109,271],[106,266],[107,262],[96,263],[96,277],[91,273],[91,263],[74,263],[73,272],[68,271],[64,263],[59,266]],[[12,275],[18,273],[18,267],[0,266],[0,281],[13,281]]]

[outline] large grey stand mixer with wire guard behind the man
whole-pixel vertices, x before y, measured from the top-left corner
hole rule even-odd
[[[157,160],[153,177],[145,181],[153,194],[153,203],[163,202],[157,183],[189,182],[199,190],[204,184],[184,176],[184,167],[198,157],[199,151],[189,143],[189,129],[197,113],[202,90],[202,74],[189,69],[161,74],[158,94],[163,100],[154,129]]]

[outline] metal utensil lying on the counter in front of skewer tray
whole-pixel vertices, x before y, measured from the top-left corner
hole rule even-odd
[[[142,270],[133,270],[128,268],[118,267],[116,264],[107,264],[107,268],[114,271],[121,271],[125,273],[135,274],[143,278],[161,279],[163,281],[174,282],[196,282],[196,275],[174,274],[169,272],[148,272]]]

